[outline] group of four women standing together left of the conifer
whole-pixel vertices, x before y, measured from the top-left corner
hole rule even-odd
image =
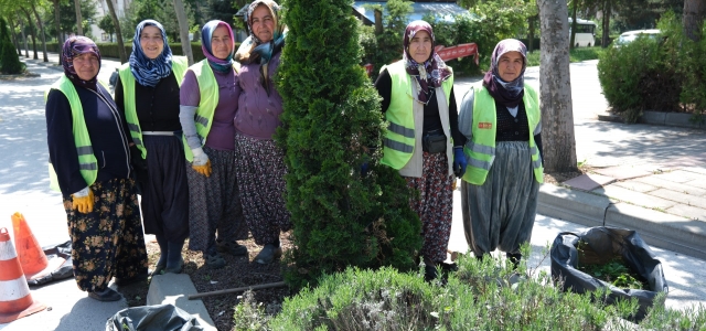
[[[96,44],[64,43],[64,75],[46,95],[50,178],[64,199],[76,282],[90,298],[119,300],[114,276],[118,286],[149,276],[142,229],[160,247],[153,275],[181,273],[188,237],[210,268],[225,266],[220,253],[247,255],[237,239],[248,229],[265,246],[255,261],[281,255],[291,223],[272,141],[282,111],[270,79],[285,41],[279,6],[254,1],[247,23],[239,64],[231,26],[214,20],[202,29],[205,60],[189,67],[159,22],[140,22],[115,102],[97,82]]]

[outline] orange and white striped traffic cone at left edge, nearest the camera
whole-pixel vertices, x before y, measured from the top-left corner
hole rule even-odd
[[[9,323],[46,308],[30,295],[7,228],[0,228],[0,323]]]

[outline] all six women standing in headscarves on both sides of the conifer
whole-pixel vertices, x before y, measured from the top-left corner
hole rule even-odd
[[[119,286],[148,277],[142,226],[160,247],[154,274],[181,273],[188,237],[210,268],[225,266],[221,253],[247,255],[237,241],[248,231],[264,246],[255,261],[281,255],[279,235],[291,222],[287,169],[272,140],[282,99],[271,77],[286,28],[271,0],[254,1],[246,20],[250,36],[237,52],[227,23],[206,23],[205,60],[191,67],[172,55],[159,22],[140,22],[115,102],[96,79],[96,44],[84,36],[64,43],[64,75],[46,102],[50,172],[64,197],[76,282],[90,298],[120,299],[108,288],[114,276]],[[422,224],[425,278],[452,268],[443,261],[454,177],[463,179],[463,224],[475,256],[500,248],[516,264],[543,171],[537,95],[523,82],[524,44],[496,45],[460,115],[453,71],[436,54],[431,26],[409,23],[403,45],[403,58],[375,82],[389,121],[382,163],[420,192],[410,206]]]

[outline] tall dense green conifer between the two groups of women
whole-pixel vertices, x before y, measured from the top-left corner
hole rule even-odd
[[[379,96],[360,66],[359,22],[347,0],[288,0],[278,72],[285,100],[287,209],[293,244],[286,279],[313,284],[349,266],[409,270],[421,247],[411,192],[379,163]],[[361,167],[367,164],[362,173]]]

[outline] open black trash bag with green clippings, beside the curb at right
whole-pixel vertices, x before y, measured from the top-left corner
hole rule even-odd
[[[651,290],[617,288],[578,270],[579,254],[576,247],[579,241],[586,244],[581,245],[582,264],[606,264],[620,257],[648,281]],[[631,229],[597,226],[579,234],[560,233],[552,244],[550,257],[552,278],[555,285],[563,285],[563,291],[584,293],[608,288],[608,305],[614,303],[618,299],[637,298],[639,309],[633,321],[640,321],[645,317],[648,308],[652,307],[659,292],[668,292],[662,263],[640,235]]]

